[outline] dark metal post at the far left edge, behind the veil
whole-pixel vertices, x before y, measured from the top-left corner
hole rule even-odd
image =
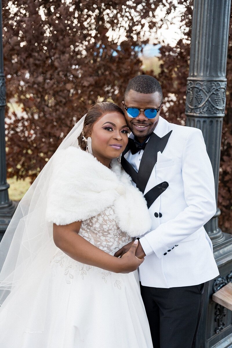
[[[17,203],[9,200],[6,182],[5,105],[6,84],[3,72],[2,2],[0,0],[0,240],[13,216]]]

